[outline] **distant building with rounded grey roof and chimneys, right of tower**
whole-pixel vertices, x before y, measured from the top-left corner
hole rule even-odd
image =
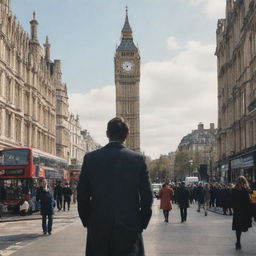
[[[214,123],[210,124],[209,129],[205,129],[204,124],[199,123],[197,130],[182,138],[178,151],[187,153],[188,175],[199,175],[203,180],[219,180],[215,169],[217,129]]]

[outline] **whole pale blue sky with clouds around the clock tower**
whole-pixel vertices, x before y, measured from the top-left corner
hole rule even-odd
[[[38,37],[61,59],[70,111],[104,145],[115,116],[114,54],[128,6],[141,55],[141,150],[153,159],[182,137],[217,126],[216,26],[225,0],[11,0],[26,31],[33,11]]]

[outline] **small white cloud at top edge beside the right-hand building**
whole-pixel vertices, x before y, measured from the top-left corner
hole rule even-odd
[[[225,0],[190,0],[190,4],[202,4],[203,13],[210,18],[224,17],[226,1]]]

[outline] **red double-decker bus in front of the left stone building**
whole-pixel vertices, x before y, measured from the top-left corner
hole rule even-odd
[[[68,180],[67,161],[33,148],[7,148],[0,151],[0,200],[8,210],[18,210],[26,198],[36,210],[38,178],[45,177],[50,189],[56,180]]]

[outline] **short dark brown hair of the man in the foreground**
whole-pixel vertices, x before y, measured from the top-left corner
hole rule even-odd
[[[122,117],[115,117],[108,122],[108,137],[110,140],[124,142],[128,133],[128,124]]]

